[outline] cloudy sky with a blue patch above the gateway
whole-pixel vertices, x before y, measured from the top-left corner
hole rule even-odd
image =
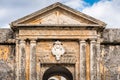
[[[120,28],[120,0],[0,0],[0,28],[55,2],[102,20],[107,28]]]

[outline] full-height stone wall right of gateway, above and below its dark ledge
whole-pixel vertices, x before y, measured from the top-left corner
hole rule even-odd
[[[120,29],[105,29],[102,38],[102,80],[120,80]]]

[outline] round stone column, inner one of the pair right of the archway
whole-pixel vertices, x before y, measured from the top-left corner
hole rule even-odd
[[[86,80],[86,41],[80,41],[80,80]]]

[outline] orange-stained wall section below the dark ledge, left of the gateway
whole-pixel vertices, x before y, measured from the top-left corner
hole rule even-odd
[[[0,80],[15,79],[15,45],[0,44]]]

